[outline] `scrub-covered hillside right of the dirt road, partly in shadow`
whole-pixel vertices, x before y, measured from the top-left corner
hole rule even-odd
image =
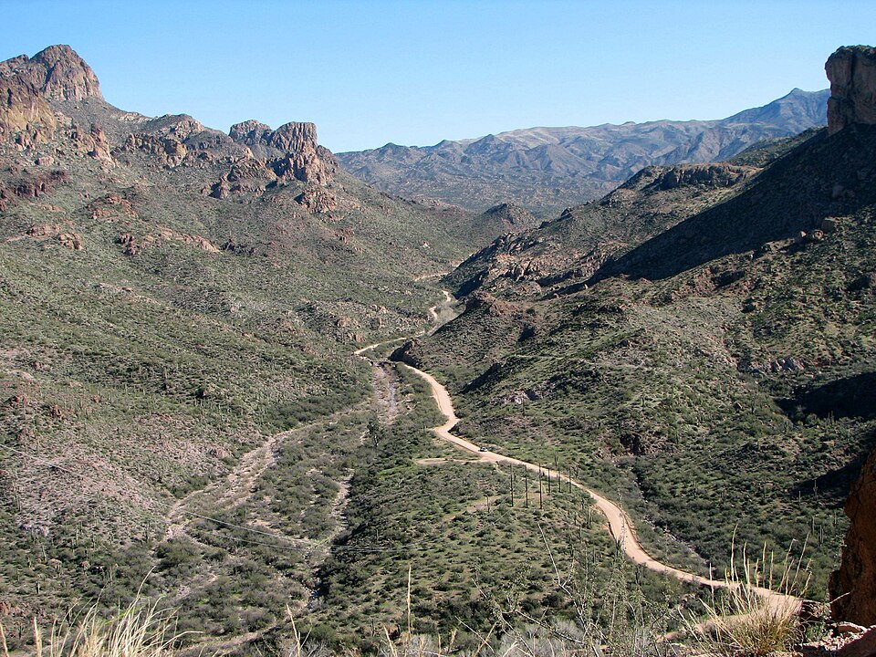
[[[456,432],[557,459],[650,521],[658,549],[724,568],[734,535],[806,538],[824,599],[876,439],[874,130],[645,170],[501,238],[448,278],[464,314],[395,357],[443,376]]]

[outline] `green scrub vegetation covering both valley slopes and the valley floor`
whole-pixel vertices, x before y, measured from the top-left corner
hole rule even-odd
[[[70,127],[0,130],[5,657],[672,652],[703,591],[622,558],[558,477],[436,441],[423,381],[350,353],[412,335],[395,357],[447,382],[454,431],[608,495],[656,558],[731,570],[715,650],[798,632],[732,536],[808,537],[825,598],[876,430],[876,134],[644,170],[469,258],[463,315],[424,334],[454,308],[427,311],[434,272],[495,225],[325,152],[305,183],[289,153],[183,144],[187,117],[54,110]],[[80,120],[115,142],[83,151]]]

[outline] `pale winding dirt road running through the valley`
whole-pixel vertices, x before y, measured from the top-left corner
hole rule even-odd
[[[442,292],[447,300],[452,298],[446,290],[442,290]],[[446,303],[446,300],[443,303]],[[437,307],[433,306],[432,308],[429,308],[430,315],[433,318],[437,318],[435,308]],[[372,344],[367,347],[363,347],[362,349],[358,349],[354,353],[358,356],[362,356],[369,349],[374,349],[384,344],[391,344],[392,342],[399,342],[402,339],[404,338],[387,340],[386,342]],[[615,541],[617,541],[618,546],[621,550],[623,550],[623,553],[627,555],[627,557],[630,558],[631,561],[635,564],[653,570],[654,572],[662,573],[663,575],[672,577],[674,579],[679,579],[681,581],[691,582],[693,584],[699,584],[702,586],[713,588],[728,588],[735,586],[733,584],[728,584],[725,580],[709,579],[703,577],[702,575],[696,575],[680,568],[667,566],[666,564],[661,563],[657,559],[653,558],[650,554],[648,554],[648,552],[645,551],[643,547],[641,547],[641,543],[639,542],[638,537],[636,537],[635,527],[633,527],[630,516],[628,516],[627,513],[620,508],[620,506],[617,506],[596,491],[590,490],[587,486],[575,481],[567,474],[559,473],[556,470],[551,470],[541,465],[528,463],[527,461],[521,461],[520,459],[516,459],[513,456],[506,456],[504,454],[496,454],[495,452],[490,452],[480,445],[477,445],[475,443],[465,440],[464,438],[460,438],[459,436],[454,435],[453,433],[451,433],[451,431],[453,430],[456,423],[459,422],[459,418],[456,417],[456,413],[454,412],[454,402],[451,399],[450,393],[447,391],[447,389],[441,383],[436,381],[435,378],[428,372],[418,370],[417,368],[412,367],[411,365],[407,365],[405,363],[397,364],[401,367],[406,368],[407,370],[412,371],[423,381],[426,381],[426,383],[428,383],[429,387],[432,389],[433,399],[437,402],[439,411],[441,411],[443,416],[446,418],[445,422],[442,425],[432,428],[433,433],[441,440],[453,444],[456,448],[460,450],[464,450],[465,452],[474,454],[478,457],[479,461],[493,464],[519,465],[521,467],[527,468],[527,470],[530,470],[532,472],[545,474],[546,476],[550,476],[555,479],[558,478],[559,480],[566,482],[569,485],[572,485],[575,488],[583,491],[593,499],[594,504],[597,506],[597,508],[600,509],[600,512],[608,520],[611,537],[613,537]],[[794,596],[777,593],[776,591],[770,589],[754,587],[753,590],[755,590],[756,593],[760,594],[761,596],[767,598],[767,600],[769,600],[770,607],[774,609],[797,609],[801,601]]]

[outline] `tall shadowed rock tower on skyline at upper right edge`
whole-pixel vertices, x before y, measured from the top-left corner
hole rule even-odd
[[[841,47],[824,69],[830,80],[829,134],[850,123],[876,124],[876,48]]]

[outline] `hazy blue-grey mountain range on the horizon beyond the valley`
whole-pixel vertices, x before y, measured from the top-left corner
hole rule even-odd
[[[549,214],[608,193],[646,166],[721,161],[758,141],[824,125],[829,95],[793,89],[721,120],[528,128],[422,148],[389,143],[337,158],[387,193],[479,212],[506,202]]]

